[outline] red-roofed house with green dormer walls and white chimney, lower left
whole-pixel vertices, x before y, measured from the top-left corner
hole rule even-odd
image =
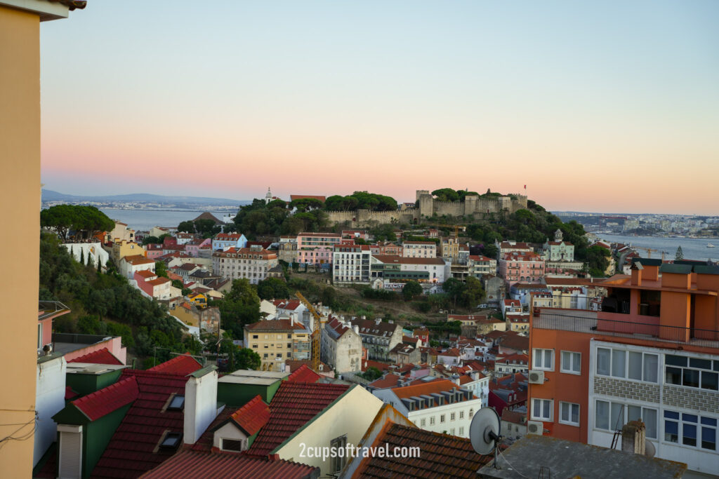
[[[137,478],[174,455],[183,438],[195,442],[216,415],[217,373],[200,368],[178,355],[147,371],[124,369],[116,383],[70,401],[52,418],[59,434],[52,477]]]

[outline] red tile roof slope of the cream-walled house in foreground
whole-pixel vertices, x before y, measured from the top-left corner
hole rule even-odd
[[[270,403],[270,421],[260,429],[249,454],[270,454],[348,389],[345,384],[282,381]]]

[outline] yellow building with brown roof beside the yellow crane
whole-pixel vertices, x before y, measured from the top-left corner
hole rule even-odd
[[[244,327],[244,347],[260,355],[262,371],[285,371],[288,359],[310,358],[310,331],[292,320],[265,320]]]

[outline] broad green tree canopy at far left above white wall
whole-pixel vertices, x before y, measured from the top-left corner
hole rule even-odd
[[[94,206],[55,205],[40,212],[40,226],[56,231],[63,239],[70,231],[75,232],[77,239],[88,239],[112,231],[115,222]]]

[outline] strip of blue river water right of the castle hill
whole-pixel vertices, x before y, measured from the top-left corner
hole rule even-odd
[[[677,254],[677,248],[682,246],[684,259],[697,259],[706,261],[719,259],[719,241],[710,240],[708,238],[655,238],[654,236],[620,236],[609,235],[605,233],[597,233],[597,236],[611,243],[624,243],[631,246],[644,246],[644,248],[652,248],[659,251],[652,251],[652,258],[661,258],[661,252],[664,251],[664,259],[674,259]],[[716,248],[707,248],[707,243],[712,242]],[[647,258],[647,252],[638,249],[637,253],[642,258]]]

